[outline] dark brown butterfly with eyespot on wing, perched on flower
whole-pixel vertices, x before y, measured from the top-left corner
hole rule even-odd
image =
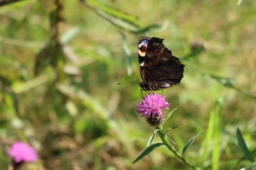
[[[163,45],[163,39],[144,37],[138,43],[139,71],[144,91],[163,90],[179,84],[183,78],[184,66],[171,50]]]

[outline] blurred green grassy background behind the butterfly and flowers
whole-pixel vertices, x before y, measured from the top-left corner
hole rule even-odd
[[[163,38],[185,65],[181,84],[163,91],[177,108],[164,128],[184,125],[168,133],[177,150],[205,130],[187,151],[189,162],[250,166],[236,129],[255,159],[255,21],[250,0],[0,6],[0,169],[10,168],[6,150],[15,141],[39,152],[25,169],[189,169],[165,147],[131,164],[155,130],[136,113],[141,88],[117,86],[141,80],[140,36]]]

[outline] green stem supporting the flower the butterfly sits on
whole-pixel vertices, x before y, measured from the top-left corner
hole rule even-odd
[[[194,165],[192,165],[191,163],[187,162],[187,160],[185,160],[185,158],[183,158],[183,156],[181,156],[181,154],[175,150],[175,148],[168,141],[168,138],[167,138],[166,134],[164,134],[162,127],[157,127],[157,129],[159,129],[158,134],[159,134],[159,137],[162,139],[164,145],[166,145],[166,147],[170,151],[172,151],[177,156],[177,158],[179,158],[185,164],[189,165],[189,167],[191,167],[193,169],[201,170],[200,168],[197,168]]]

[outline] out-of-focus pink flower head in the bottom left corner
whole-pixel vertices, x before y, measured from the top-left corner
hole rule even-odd
[[[15,142],[7,154],[13,158],[14,163],[36,162],[38,159],[36,150],[24,142]]]

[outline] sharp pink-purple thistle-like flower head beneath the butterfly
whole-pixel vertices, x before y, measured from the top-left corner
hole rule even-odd
[[[141,113],[141,116],[145,117],[151,125],[159,126],[163,122],[162,109],[168,109],[169,106],[170,104],[164,96],[150,94],[143,97],[141,102],[137,104],[137,111]]]

